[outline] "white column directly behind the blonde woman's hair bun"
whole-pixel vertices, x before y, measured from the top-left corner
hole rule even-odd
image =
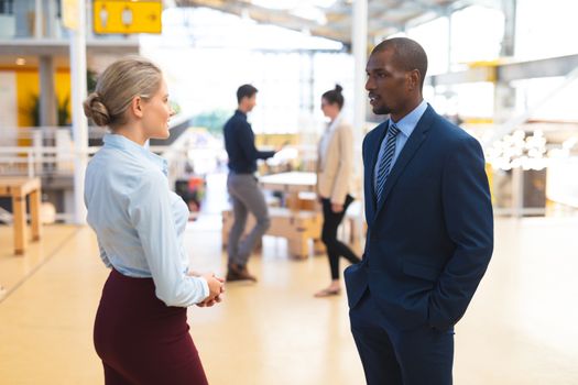
[[[88,160],[88,124],[83,110],[86,99],[86,3],[77,0],[78,29],[70,31],[70,81],[74,138],[74,222],[86,222],[85,172]]]

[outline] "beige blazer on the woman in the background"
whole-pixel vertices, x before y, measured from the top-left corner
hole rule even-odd
[[[345,204],[353,195],[353,132],[351,125],[340,122],[329,135],[327,151],[317,146],[317,194],[334,204]]]

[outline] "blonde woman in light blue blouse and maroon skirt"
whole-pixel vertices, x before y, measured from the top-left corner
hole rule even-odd
[[[95,321],[106,384],[207,384],[187,307],[220,301],[222,279],[188,272],[186,204],[168,189],[166,162],[144,147],[168,138],[166,84],[142,57],[110,65],[84,103],[105,145],[86,170],[87,220],[110,275]]]

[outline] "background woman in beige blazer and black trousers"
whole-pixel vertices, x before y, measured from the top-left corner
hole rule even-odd
[[[330,119],[317,154],[317,194],[323,205],[324,223],[321,240],[327,248],[331,284],[315,294],[315,297],[338,295],[341,292],[339,283],[339,256],[351,263],[360,262],[348,245],[337,239],[337,228],[343,220],[347,208],[353,201],[352,168],[353,168],[353,134],[351,127],[341,119],[343,96],[341,86],[325,92],[321,97],[321,110]]]

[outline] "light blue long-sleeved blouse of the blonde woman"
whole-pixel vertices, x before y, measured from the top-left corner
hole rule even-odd
[[[188,208],[170,190],[166,161],[122,135],[107,134],[86,169],[87,221],[100,257],[130,277],[152,277],[166,306],[187,307],[209,295],[192,277],[183,237]]]

